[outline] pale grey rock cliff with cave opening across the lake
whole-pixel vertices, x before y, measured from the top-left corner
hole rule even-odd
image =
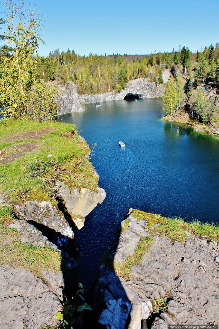
[[[111,100],[121,100],[126,96],[137,97],[162,97],[164,87],[155,82],[148,82],[147,79],[135,79],[128,82],[128,88],[122,89],[120,92],[107,92],[96,95],[79,95],[82,103],[95,103]]]

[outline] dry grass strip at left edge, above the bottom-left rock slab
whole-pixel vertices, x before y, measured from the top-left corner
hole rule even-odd
[[[0,264],[26,268],[37,277],[42,270],[61,271],[61,255],[48,246],[39,247],[20,241],[22,234],[7,226],[13,222],[12,207],[0,208]]]

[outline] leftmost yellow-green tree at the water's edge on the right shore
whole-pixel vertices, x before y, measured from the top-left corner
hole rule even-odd
[[[171,76],[170,80],[166,84],[163,101],[164,101],[164,107],[163,107],[164,111],[166,112],[167,115],[171,114],[172,116],[173,111],[176,109],[178,103],[178,97],[175,89],[173,76]]]

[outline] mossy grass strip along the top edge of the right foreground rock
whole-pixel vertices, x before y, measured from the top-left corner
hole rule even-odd
[[[159,224],[159,226],[155,227],[153,231],[160,234],[166,234],[172,240],[184,241],[188,236],[186,232],[189,232],[199,237],[204,236],[207,240],[219,242],[219,226],[217,224],[202,223],[198,220],[187,222],[181,217],[167,218],[151,213],[141,212],[139,215],[139,211],[135,209],[133,209],[132,215],[135,218],[146,219],[148,221],[149,229],[153,225]]]

